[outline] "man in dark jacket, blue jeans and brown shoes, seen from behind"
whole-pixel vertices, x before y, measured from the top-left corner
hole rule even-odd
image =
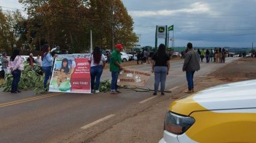
[[[193,93],[194,92],[194,73],[195,71],[200,70],[200,64],[199,60],[197,58],[197,53],[192,50],[193,45],[192,43],[187,44],[187,49],[189,52],[187,52],[187,55],[184,60],[184,65],[182,68],[182,71],[186,71],[186,77],[187,77],[187,85],[188,90],[185,91],[185,93]]]

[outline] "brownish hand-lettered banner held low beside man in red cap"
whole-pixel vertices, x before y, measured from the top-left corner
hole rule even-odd
[[[117,85],[145,86],[149,78],[149,71],[126,68],[120,72],[117,79]]]

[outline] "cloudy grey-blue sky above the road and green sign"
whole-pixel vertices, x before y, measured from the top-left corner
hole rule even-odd
[[[134,20],[140,45],[155,44],[155,25],[174,25],[175,47],[252,47],[256,45],[256,0],[122,0]],[[22,9],[0,0],[2,9]],[[11,9],[9,9],[11,10]],[[170,32],[172,36],[172,32]],[[164,40],[159,39],[159,44]]]

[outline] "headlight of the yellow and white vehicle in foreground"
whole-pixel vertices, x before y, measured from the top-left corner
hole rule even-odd
[[[189,127],[194,124],[195,119],[189,116],[180,116],[167,111],[165,115],[164,130],[172,134],[183,134]]]

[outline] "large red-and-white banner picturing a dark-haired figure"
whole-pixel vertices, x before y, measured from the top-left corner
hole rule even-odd
[[[91,93],[89,55],[72,54],[56,57],[49,91]]]

